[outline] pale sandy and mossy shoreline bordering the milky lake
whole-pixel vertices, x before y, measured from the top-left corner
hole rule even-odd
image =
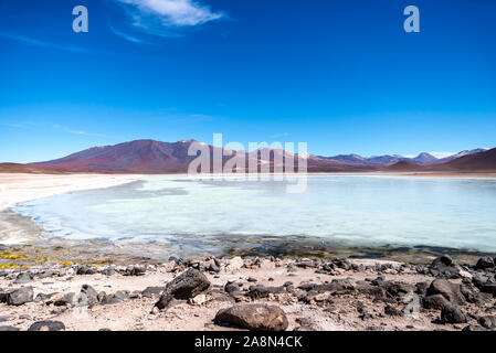
[[[333,175],[333,173],[310,174]],[[409,178],[401,175],[373,175],[378,178]],[[75,240],[56,237],[43,237],[44,229],[33,220],[10,211],[12,205],[29,200],[43,199],[55,194],[89,189],[105,189],[127,184],[140,180],[144,175],[107,175],[107,174],[0,174],[0,247],[6,250],[19,249],[23,258],[11,261],[13,266],[32,266],[44,263],[115,263],[159,261],[171,255],[193,258],[197,254],[175,254],[166,243],[89,239]],[[215,175],[212,175],[215,178]],[[219,175],[218,175],[219,176]],[[431,176],[422,174],[419,178]],[[453,176],[453,175],[452,175]],[[215,245],[217,244],[217,245]],[[221,244],[222,246],[220,246]],[[275,257],[312,257],[331,258],[346,256],[351,258],[372,258],[400,260],[409,264],[424,264],[441,255],[450,255],[460,260],[473,260],[481,256],[495,256],[495,252],[481,252],[443,246],[401,246],[401,245],[347,245],[336,240],[305,236],[250,237],[219,236],[205,240],[201,256],[275,256]],[[215,250],[212,250],[215,248]],[[147,254],[148,256],[144,256]],[[107,259],[107,260],[106,260]],[[2,265],[3,264],[3,265]],[[0,265],[6,266],[0,258]]]

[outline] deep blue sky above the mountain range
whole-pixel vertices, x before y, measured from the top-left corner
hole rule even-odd
[[[495,43],[492,0],[0,0],[0,161],[213,132],[325,156],[496,147]]]

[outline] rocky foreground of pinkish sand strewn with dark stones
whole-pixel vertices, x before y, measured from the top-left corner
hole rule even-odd
[[[291,258],[0,270],[0,331],[496,330],[495,259]]]

